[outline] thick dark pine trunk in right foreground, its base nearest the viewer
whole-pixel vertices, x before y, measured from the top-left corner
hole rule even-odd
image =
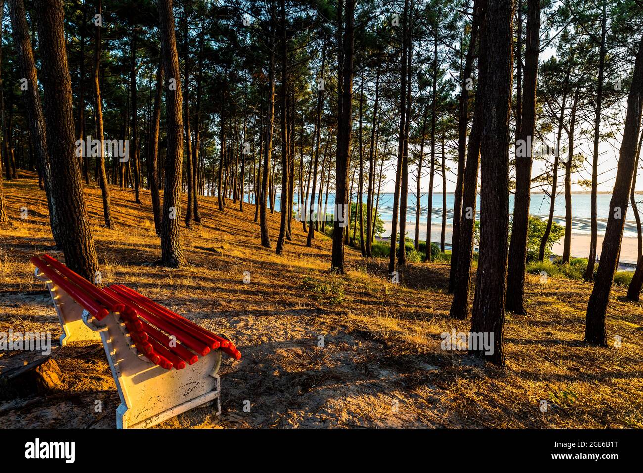
[[[471,318],[472,333],[493,333],[493,353],[469,353],[505,363],[503,327],[509,253],[509,115],[513,73],[512,0],[489,0],[480,35],[482,121],[480,141],[480,259]]]

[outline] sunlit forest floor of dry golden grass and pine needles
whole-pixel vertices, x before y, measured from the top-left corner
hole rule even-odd
[[[44,192],[32,173],[21,176],[5,181],[0,332],[51,331],[55,341],[57,316],[29,258],[62,253]],[[622,345],[591,348],[582,342],[591,284],[527,275],[529,316],[507,314],[507,366],[485,366],[440,349],[441,333],[468,332],[470,323],[448,319],[446,264],[408,264],[393,284],[386,261],[349,248],[347,274],[332,275],[328,237],[316,234],[306,248],[293,221],[293,242],[279,257],[259,245],[253,205],[240,212],[227,201],[222,213],[202,197],[202,223],[181,229],[188,265],[168,269],[154,264],[160,250],[147,190],[136,205],[131,190],[112,188],[113,230],[102,226],[100,189],[89,185],[85,194],[104,282],[125,283],[225,335],[243,355],[222,363],[221,416],[204,406],[158,427],[643,427],[643,306],[626,302],[622,288],[607,317],[610,343],[620,337]],[[279,216],[269,214],[273,248]],[[0,351],[0,365],[19,355]],[[0,401],[0,427],[114,427],[118,394],[102,346],[51,356],[62,369],[59,390]]]

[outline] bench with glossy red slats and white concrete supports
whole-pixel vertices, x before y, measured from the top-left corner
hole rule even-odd
[[[216,400],[221,414],[221,353],[241,353],[230,340],[123,286],[104,289],[50,255],[32,257],[35,277],[49,287],[63,335],[102,340],[121,404],[118,429],[150,427]]]

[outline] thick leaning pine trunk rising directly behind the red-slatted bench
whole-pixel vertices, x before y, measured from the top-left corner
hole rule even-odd
[[[42,66],[44,108],[47,110],[47,148],[51,160],[51,201],[55,232],[67,266],[89,281],[98,271],[98,257],[82,192],[80,165],[75,156],[71,77],[67,64],[62,1],[36,0]]]

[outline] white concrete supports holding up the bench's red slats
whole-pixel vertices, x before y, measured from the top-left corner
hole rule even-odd
[[[221,351],[199,356],[183,369],[164,369],[136,351],[118,315],[96,320],[38,269],[35,276],[48,284],[64,331],[61,345],[102,340],[121,401],[116,428],[145,429],[208,402],[216,402],[221,414]]]

